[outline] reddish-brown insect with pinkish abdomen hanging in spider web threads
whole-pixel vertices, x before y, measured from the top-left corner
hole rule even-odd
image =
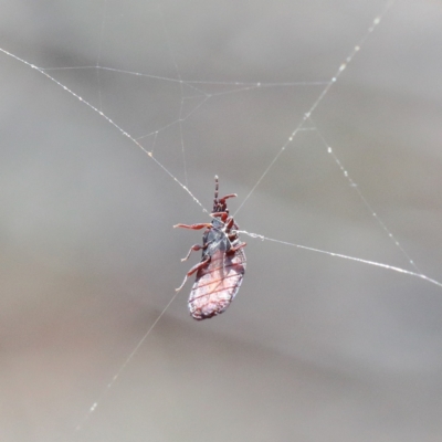
[[[197,273],[189,296],[189,311],[197,319],[208,319],[223,313],[240,290],[245,272],[245,242],[238,235],[238,224],[229,215],[225,201],[235,193],[218,198],[218,177],[214,177],[214,199],[211,223],[177,224],[175,228],[191,230],[204,229],[202,245],[194,244],[181,261],[186,261],[192,251],[202,250],[201,261],[187,272],[185,281],[177,288],[180,291],[188,276]]]

